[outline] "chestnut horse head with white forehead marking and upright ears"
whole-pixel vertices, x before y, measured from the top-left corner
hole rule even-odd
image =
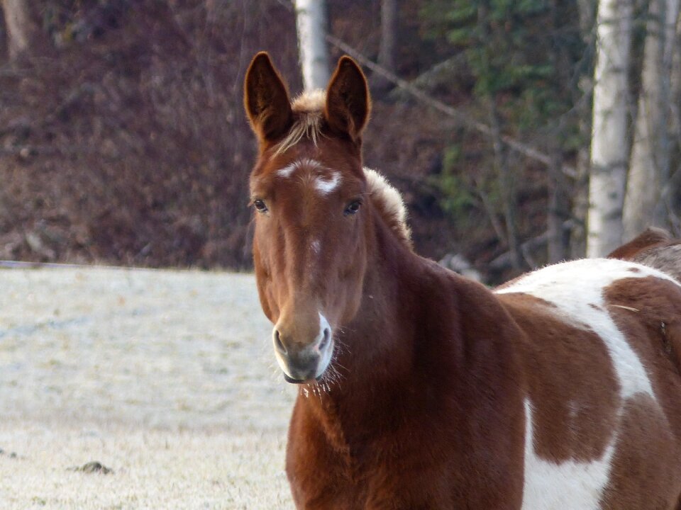
[[[367,81],[350,57],[326,91],[289,99],[265,52],[245,77],[245,110],[260,146],[250,176],[258,293],[289,382],[319,379],[334,331],[356,314],[366,270],[370,208],[361,134]]]

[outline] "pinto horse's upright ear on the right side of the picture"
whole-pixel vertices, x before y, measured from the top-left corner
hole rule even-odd
[[[358,142],[370,110],[369,87],[362,69],[350,57],[341,57],[326,89],[328,125]]]

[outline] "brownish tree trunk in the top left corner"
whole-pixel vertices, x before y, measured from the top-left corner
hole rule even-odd
[[[7,52],[11,60],[29,55],[45,42],[39,18],[31,8],[31,0],[2,0],[7,28]],[[35,2],[33,2],[35,8]]]

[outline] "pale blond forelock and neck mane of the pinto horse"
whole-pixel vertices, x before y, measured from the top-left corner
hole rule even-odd
[[[326,91],[322,89],[303,92],[297,96],[291,102],[294,123],[284,140],[277,145],[275,154],[286,152],[304,138],[316,144],[321,137],[325,105]],[[367,178],[368,193],[384,221],[397,238],[411,249],[411,229],[406,224],[406,206],[402,195],[377,171],[365,167],[364,174]]]

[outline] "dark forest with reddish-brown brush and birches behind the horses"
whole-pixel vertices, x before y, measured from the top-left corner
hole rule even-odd
[[[681,235],[678,0],[327,0],[416,251],[493,283]],[[287,0],[2,0],[0,259],[250,267],[245,69]]]

